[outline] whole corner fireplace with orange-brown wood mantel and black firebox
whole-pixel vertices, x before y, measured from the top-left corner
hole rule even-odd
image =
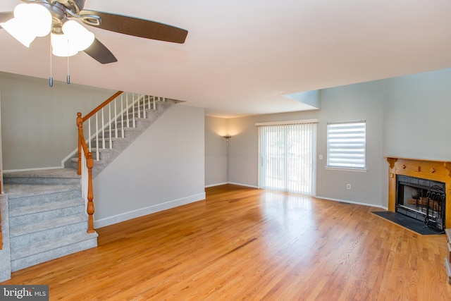
[[[451,228],[451,161],[386,157],[388,210],[423,221],[440,231]],[[447,202],[447,199],[449,201]]]

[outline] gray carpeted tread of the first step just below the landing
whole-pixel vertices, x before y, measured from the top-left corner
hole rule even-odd
[[[39,185],[39,184],[5,184],[4,190],[9,199],[48,195],[53,192],[80,190],[81,185]]]

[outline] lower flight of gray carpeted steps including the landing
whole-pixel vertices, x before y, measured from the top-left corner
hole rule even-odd
[[[11,270],[97,246],[73,168],[4,173]]]

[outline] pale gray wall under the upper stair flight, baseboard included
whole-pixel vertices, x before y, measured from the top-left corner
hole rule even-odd
[[[94,179],[94,226],[205,199],[204,109],[177,104]]]

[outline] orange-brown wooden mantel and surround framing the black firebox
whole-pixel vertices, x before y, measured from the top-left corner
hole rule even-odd
[[[389,164],[388,171],[388,210],[395,211],[396,203],[396,175],[411,176],[436,180],[446,185],[447,202],[445,207],[445,228],[451,228],[451,161],[428,159],[401,158],[386,156]]]

